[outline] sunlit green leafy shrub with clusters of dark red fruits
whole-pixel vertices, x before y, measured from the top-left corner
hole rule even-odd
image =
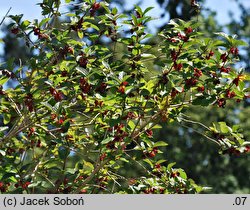
[[[70,1],[66,1],[70,3]],[[102,1],[86,1],[63,28],[55,24],[60,1],[44,1],[40,23],[11,16],[15,34],[38,50],[25,76],[7,63],[0,90],[3,116],[0,177],[7,193],[199,193],[175,163],[161,158],[165,139],[153,131],[161,123],[191,122],[184,109],[225,107],[248,95],[233,36],[206,38],[196,22],[171,20],[155,47],[146,41],[147,12],[136,6],[130,16]],[[99,14],[99,11],[103,10]],[[123,34],[123,24],[130,34]],[[30,34],[36,36],[31,41]],[[103,39],[111,45],[101,45]],[[124,50],[121,58],[117,48]],[[155,52],[157,49],[157,53]],[[153,69],[158,71],[147,78]],[[8,69],[7,69],[8,68]],[[224,122],[204,128],[203,136],[221,153],[248,153],[237,127]],[[166,138],[168,138],[166,136]],[[127,167],[140,173],[128,176]],[[141,174],[141,175],[140,175]]]

